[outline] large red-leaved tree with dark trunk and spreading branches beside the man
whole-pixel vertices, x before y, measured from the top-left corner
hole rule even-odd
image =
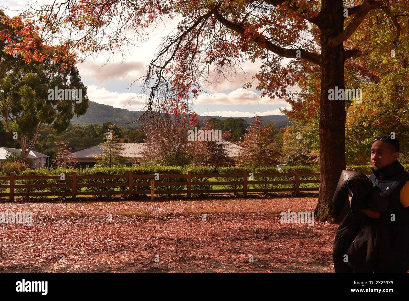
[[[324,221],[330,218],[345,168],[345,101],[329,100],[328,94],[345,88],[345,62],[361,54],[344,45],[371,11],[382,9],[395,18],[408,5],[398,0],[67,0],[43,7],[39,26],[45,34],[63,32],[63,26],[75,32],[61,45],[77,57],[121,49],[135,37],[146,38],[152,25],[180,17],[143,79],[148,112],[164,99],[196,98],[204,83],[217,82],[245,59],[261,61],[254,79],[262,95],[281,99],[292,97],[287,87],[299,82],[306,67],[318,66],[321,177],[316,216]]]

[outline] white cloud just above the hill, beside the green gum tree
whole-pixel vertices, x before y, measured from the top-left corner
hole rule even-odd
[[[136,93],[110,92],[103,87],[90,85],[87,89],[88,99],[115,108],[137,111],[144,108],[147,96]],[[134,99],[137,97],[136,99]]]

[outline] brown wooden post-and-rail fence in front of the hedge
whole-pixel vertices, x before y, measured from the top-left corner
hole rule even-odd
[[[366,173],[369,174],[369,173]],[[250,177],[250,179],[249,179]],[[291,177],[291,180],[251,180],[251,178],[276,178],[276,177]],[[151,200],[153,200],[154,194],[167,194],[167,195],[182,195],[186,194],[187,198],[191,198],[192,194],[204,194],[204,193],[235,193],[243,194],[247,197],[248,193],[269,193],[269,192],[294,192],[295,195],[299,195],[300,192],[305,191],[319,191],[318,183],[319,179],[301,180],[300,177],[319,177],[319,173],[301,173],[296,169],[294,173],[254,173],[249,174],[246,170],[243,173],[202,173],[193,174],[191,171],[187,171],[187,174],[168,174],[159,175],[159,179],[166,179],[166,182],[156,182],[155,175],[137,175],[133,174],[133,171],[129,171],[128,175],[77,175],[76,171],[72,175],[65,175],[64,180],[61,180],[61,176],[18,176],[15,173],[11,173],[10,176],[0,176],[2,182],[9,181],[8,184],[0,184],[0,189],[7,190],[9,193],[0,193],[0,197],[9,197],[10,201],[13,201],[15,197],[29,197],[29,196],[69,196],[72,200],[77,197],[86,195],[127,195],[128,198],[134,198],[137,195],[151,195]],[[203,179],[205,181],[201,181]],[[233,178],[234,181],[208,181],[210,178]],[[83,179],[123,179],[122,182],[113,183],[81,183]],[[128,179],[128,181],[126,181]],[[144,179],[146,182],[135,182],[136,179]],[[149,181],[151,179],[151,181]],[[172,181],[175,179],[175,181]],[[186,179],[186,180],[185,180]],[[193,180],[192,179],[196,179]],[[38,181],[38,180],[61,180],[61,184],[16,184],[16,181]],[[66,180],[72,180],[72,183],[64,183]],[[71,182],[71,181],[70,181]],[[249,188],[249,186],[259,185],[266,186],[273,184],[279,185],[284,184],[285,188]],[[315,187],[301,187],[308,186],[302,184],[315,184]],[[230,189],[198,189],[202,188],[200,186],[213,186],[213,185],[224,185],[233,188]],[[166,189],[156,189],[157,187],[165,187]],[[170,189],[169,186],[177,186],[178,189]],[[241,187],[240,189],[237,189]],[[83,187],[124,187],[121,190],[115,191],[81,191]],[[146,190],[145,188],[146,187]],[[195,188],[195,189],[192,189]],[[16,192],[16,189],[62,189],[63,191],[39,191],[39,192]],[[127,189],[126,189],[127,188]],[[183,189],[181,189],[183,188]],[[208,188],[208,187],[207,187]],[[144,189],[144,190],[139,190]],[[68,191],[67,191],[68,190]]]

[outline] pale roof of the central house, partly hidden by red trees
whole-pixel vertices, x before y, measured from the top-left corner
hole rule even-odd
[[[227,148],[229,157],[238,156],[238,153],[243,149],[241,146],[225,140],[223,140],[222,144]],[[145,143],[119,143],[119,145],[122,148],[120,155],[127,158],[142,158],[142,151],[146,148]],[[105,146],[92,146],[79,150],[73,153],[73,155],[75,155],[77,159],[92,159],[93,156],[102,154],[103,147]]]

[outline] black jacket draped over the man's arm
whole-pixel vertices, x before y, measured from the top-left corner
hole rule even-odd
[[[388,197],[363,173],[342,171],[333,197],[333,216],[338,216],[349,202],[349,190],[351,210],[335,234],[335,272],[385,271],[393,265],[386,222],[369,218],[360,209],[389,212]]]

